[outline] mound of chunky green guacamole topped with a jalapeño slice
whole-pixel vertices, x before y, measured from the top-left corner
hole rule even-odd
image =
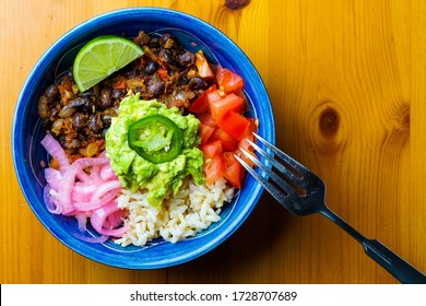
[[[147,202],[159,209],[188,175],[204,184],[199,125],[193,115],[142,101],[139,94],[122,99],[105,137],[107,157],[122,187],[147,189]]]

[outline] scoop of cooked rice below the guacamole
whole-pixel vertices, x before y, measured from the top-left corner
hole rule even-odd
[[[221,220],[222,208],[233,199],[234,189],[226,186],[225,179],[212,186],[187,179],[177,195],[164,200],[158,211],[147,203],[146,196],[145,190],[121,191],[118,207],[129,211],[130,229],[116,244],[143,246],[157,237],[177,243],[194,236]]]

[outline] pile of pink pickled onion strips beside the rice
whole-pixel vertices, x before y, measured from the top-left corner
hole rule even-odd
[[[59,164],[59,170],[51,167],[45,169],[47,184],[44,199],[48,211],[75,216],[82,233],[87,231],[86,223],[91,219],[92,227],[100,236],[75,234],[84,242],[104,243],[109,236],[122,236],[129,225],[123,223],[125,211],[116,202],[121,184],[110,168],[105,152],[99,157],[84,157],[70,164],[62,146],[52,136],[46,134],[42,145]]]

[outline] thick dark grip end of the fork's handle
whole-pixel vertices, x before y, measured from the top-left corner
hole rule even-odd
[[[426,275],[378,240],[362,243],[365,252],[403,284],[426,284]]]

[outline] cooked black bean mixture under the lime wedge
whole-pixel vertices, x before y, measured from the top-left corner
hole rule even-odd
[[[143,99],[156,98],[184,114],[214,82],[200,76],[196,55],[180,46],[174,35],[155,37],[141,31],[133,42],[145,54],[92,89],[79,92],[70,70],[40,96],[42,126],[71,160],[96,156],[105,150],[105,133],[129,93],[140,93]]]

